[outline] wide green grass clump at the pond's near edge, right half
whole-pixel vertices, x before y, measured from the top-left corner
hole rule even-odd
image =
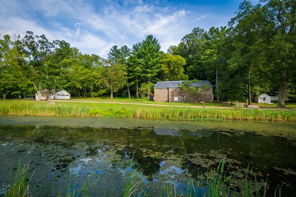
[[[223,170],[224,164],[225,159],[219,163],[216,169],[206,172],[204,176],[198,176],[197,180],[189,179],[185,193],[176,191],[175,183],[163,186],[161,197],[266,197],[267,180],[263,186],[259,186],[253,170],[249,170],[249,165],[242,191],[238,193],[231,189],[229,185],[233,182],[232,176],[226,176]],[[236,181],[234,181],[235,185]],[[275,190],[274,197],[281,197],[281,187],[278,186]]]

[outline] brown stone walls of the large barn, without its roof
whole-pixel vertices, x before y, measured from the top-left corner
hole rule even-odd
[[[181,102],[181,96],[185,96],[185,91],[179,88],[170,88],[170,89],[154,89],[154,101],[158,102],[174,102],[174,97],[178,97],[178,102]],[[195,100],[213,102],[213,88],[206,90],[202,95],[200,95]],[[185,102],[189,100],[185,97]]]

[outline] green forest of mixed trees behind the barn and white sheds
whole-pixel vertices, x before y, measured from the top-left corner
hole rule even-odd
[[[278,106],[296,100],[296,0],[239,4],[227,26],[194,28],[164,52],[153,35],[128,46],[112,46],[106,59],[82,54],[65,40],[45,35],[5,34],[0,39],[3,99],[26,98],[44,89],[72,97],[153,94],[158,81],[208,80],[217,101],[248,101],[266,93]]]

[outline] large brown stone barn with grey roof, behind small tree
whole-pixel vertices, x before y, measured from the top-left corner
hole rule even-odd
[[[154,86],[154,101],[157,102],[189,102],[186,98],[185,91],[179,88],[181,83],[185,81],[161,81]],[[198,81],[193,85],[197,88],[202,88],[203,85],[208,85],[209,89],[203,91],[194,102],[206,101],[213,102],[213,85],[209,81]]]

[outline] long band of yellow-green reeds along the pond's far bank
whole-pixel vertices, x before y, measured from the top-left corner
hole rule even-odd
[[[46,103],[6,103],[0,105],[0,116],[58,116],[58,117],[122,117],[168,120],[256,120],[296,121],[296,110],[218,109],[188,107],[111,108]]]

